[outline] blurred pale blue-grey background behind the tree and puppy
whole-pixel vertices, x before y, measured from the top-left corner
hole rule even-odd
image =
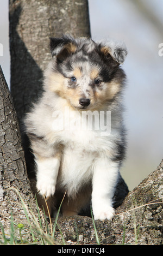
[[[121,173],[131,190],[163,157],[163,1],[89,0],[89,11],[93,40],[122,40],[128,49],[123,64],[128,150]],[[10,86],[8,16],[8,1],[0,0],[0,64]]]

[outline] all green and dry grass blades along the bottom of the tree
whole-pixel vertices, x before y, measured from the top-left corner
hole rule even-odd
[[[13,188],[12,188],[13,189]],[[14,188],[15,189],[15,188]],[[36,205],[37,205],[37,217],[34,215],[32,209],[30,208],[30,204],[26,205],[18,192],[17,189],[15,189],[18,196],[20,197],[22,208],[24,210],[24,213],[26,215],[27,219],[27,225],[23,223],[15,223],[13,215],[12,215],[12,210],[11,210],[11,217],[10,217],[10,230],[9,233],[6,234],[5,230],[3,228],[2,223],[0,222],[0,244],[2,245],[66,245],[66,241],[64,239],[64,235],[62,234],[61,228],[59,227],[58,224],[58,217],[59,217],[59,212],[61,208],[61,204],[59,206],[59,210],[57,212],[57,216],[55,217],[54,223],[52,223],[51,216],[49,215],[49,224],[47,221],[47,217],[45,215],[45,211],[40,211],[39,206],[37,204],[36,200]],[[64,195],[65,197],[65,195]],[[64,198],[62,199],[62,201]],[[162,202],[159,202],[162,203]],[[153,202],[146,204],[155,204]],[[158,204],[158,203],[156,203]],[[146,206],[142,205],[139,207],[135,207],[134,209],[128,210],[126,212],[139,209],[140,207]],[[120,215],[119,213],[118,215]],[[98,232],[96,229],[95,221],[93,219],[93,214],[92,214],[92,209],[91,209],[91,216],[92,216],[92,223],[93,223],[93,228],[95,230],[95,238],[96,238],[96,243],[97,245],[102,245],[101,242],[99,241],[98,237]],[[55,236],[56,234],[56,228],[58,228],[58,231],[61,236],[62,241],[58,241],[57,237]],[[77,237],[77,245],[79,245],[79,233],[78,233],[78,228],[77,228],[77,223],[74,223],[74,229],[76,231],[76,237]],[[135,245],[138,243],[138,235],[139,235],[139,227],[136,228],[136,219],[134,219],[134,236],[135,236]],[[29,237],[29,239],[27,238]],[[123,228],[123,236],[122,236],[122,245],[125,245],[125,237],[126,237],[126,227]]]

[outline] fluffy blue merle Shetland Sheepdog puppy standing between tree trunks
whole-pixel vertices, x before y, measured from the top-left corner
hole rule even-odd
[[[95,219],[110,220],[126,148],[126,46],[64,35],[50,47],[42,96],[24,118],[40,204],[53,214],[62,201],[62,216],[72,216],[91,202]]]

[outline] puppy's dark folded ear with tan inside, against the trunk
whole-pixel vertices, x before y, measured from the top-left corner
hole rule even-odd
[[[52,57],[57,56],[60,61],[77,50],[76,41],[68,36],[64,36],[62,38],[51,37],[50,48]]]

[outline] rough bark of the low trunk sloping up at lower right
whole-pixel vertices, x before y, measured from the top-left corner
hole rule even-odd
[[[127,195],[111,222],[95,221],[101,245],[162,245],[162,171],[163,159],[158,168]],[[60,218],[58,224],[68,244],[97,244],[91,218]],[[59,230],[56,236],[61,240]]]

